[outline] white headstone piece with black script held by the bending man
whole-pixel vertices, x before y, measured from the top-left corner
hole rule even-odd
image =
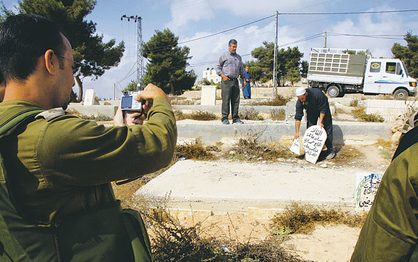
[[[327,132],[320,125],[312,125],[303,136],[305,160],[315,164],[327,140]]]

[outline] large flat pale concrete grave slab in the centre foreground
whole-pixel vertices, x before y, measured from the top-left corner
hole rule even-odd
[[[292,201],[353,210],[355,174],[365,170],[315,170],[287,163],[184,160],[135,194],[161,199],[169,196],[168,208],[211,210],[215,214],[247,213],[249,208],[253,208],[251,213],[254,208],[279,210]]]

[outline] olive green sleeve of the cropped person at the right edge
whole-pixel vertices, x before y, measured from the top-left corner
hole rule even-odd
[[[418,145],[398,155],[382,178],[351,261],[409,261],[418,240]]]

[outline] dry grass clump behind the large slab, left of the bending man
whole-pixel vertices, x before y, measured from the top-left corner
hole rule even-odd
[[[291,158],[293,153],[281,144],[265,144],[255,137],[241,138],[233,147],[235,153],[229,154],[231,159],[251,161],[277,161],[277,158]]]

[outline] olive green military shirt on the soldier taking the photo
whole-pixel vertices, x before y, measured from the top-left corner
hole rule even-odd
[[[26,100],[8,100],[0,103],[0,114],[12,107],[40,108]],[[0,151],[22,213],[50,223],[115,201],[109,183],[166,167],[176,139],[171,105],[157,97],[144,125],[104,127],[58,110],[1,139]]]

